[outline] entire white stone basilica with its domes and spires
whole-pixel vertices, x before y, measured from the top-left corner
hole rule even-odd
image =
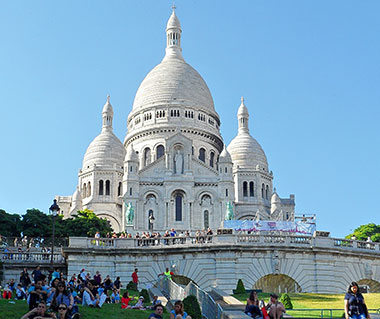
[[[74,194],[56,197],[64,218],[87,208],[116,232],[217,229],[227,213],[239,220],[294,220],[294,195],[280,198],[273,189],[243,98],[237,135],[224,144],[210,90],[182,55],[181,33],[173,9],[165,56],[137,90],[123,143],[113,133],[107,98]]]

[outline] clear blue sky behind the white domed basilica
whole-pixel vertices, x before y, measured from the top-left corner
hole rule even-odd
[[[71,195],[107,94],[123,140],[171,1],[0,1],[0,208]],[[244,95],[280,196],[341,237],[380,223],[380,1],[176,1],[228,144]]]

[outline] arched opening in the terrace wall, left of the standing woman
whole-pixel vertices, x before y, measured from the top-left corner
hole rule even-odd
[[[253,286],[253,289],[260,289],[263,292],[289,293],[301,292],[301,286],[288,275],[270,274],[261,277]]]

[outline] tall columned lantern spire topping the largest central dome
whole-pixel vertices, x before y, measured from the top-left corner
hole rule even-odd
[[[181,49],[181,23],[175,14],[175,5],[172,6],[173,12],[166,25],[166,55],[165,58],[182,59]]]

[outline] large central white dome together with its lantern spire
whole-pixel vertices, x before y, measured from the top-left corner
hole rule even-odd
[[[182,57],[181,25],[173,10],[166,26],[166,55],[140,84],[132,112],[161,105],[184,105],[217,115],[209,88]]]

